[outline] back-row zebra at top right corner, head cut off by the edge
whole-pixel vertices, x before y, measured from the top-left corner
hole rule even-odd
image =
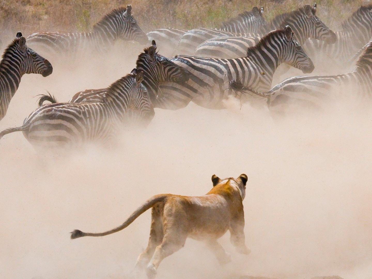
[[[317,57],[322,63],[324,61],[327,61],[327,64],[332,63],[337,66],[333,69],[342,72],[355,62],[350,60],[350,57],[355,55],[365,44],[368,44],[372,37],[372,4],[359,7],[341,23],[341,26],[343,31],[336,32],[335,44],[311,39],[305,43],[304,49],[310,57]]]

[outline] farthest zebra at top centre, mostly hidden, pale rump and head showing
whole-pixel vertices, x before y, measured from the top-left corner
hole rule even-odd
[[[224,34],[226,31],[227,35],[231,35],[233,33],[257,33],[259,30],[266,25],[266,21],[263,18],[263,7],[260,9],[257,7],[253,7],[251,12],[245,11],[236,17],[233,17],[226,22],[222,23],[222,26],[219,28],[219,31],[222,32],[213,32],[214,34],[217,33],[219,35]],[[184,30],[184,29],[175,29],[175,28],[163,28],[163,29],[156,29],[152,32],[147,33],[149,39],[154,39],[158,43],[160,42],[161,45],[167,46],[167,48],[163,47],[161,49],[161,54],[168,56],[174,54],[174,50],[179,45],[181,38],[185,35],[186,32],[196,32],[198,29]],[[202,30],[214,30],[217,29],[202,29]],[[216,36],[216,35],[213,35]],[[210,37],[212,38],[212,37]],[[203,41],[205,41],[204,39]],[[202,42],[203,42],[202,41]],[[201,43],[202,43],[201,42]],[[197,44],[195,47],[197,47]],[[195,49],[195,48],[194,48]],[[179,52],[184,53],[184,52]],[[186,54],[186,53],[185,53]],[[192,53],[193,54],[193,53]]]

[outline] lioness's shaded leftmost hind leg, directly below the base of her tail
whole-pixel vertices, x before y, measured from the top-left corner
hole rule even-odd
[[[150,228],[150,238],[148,239],[148,244],[146,249],[138,256],[136,268],[144,269],[150,262],[155,248],[159,246],[164,237],[163,233],[163,222],[161,221],[161,206],[154,206],[151,210],[151,228]]]

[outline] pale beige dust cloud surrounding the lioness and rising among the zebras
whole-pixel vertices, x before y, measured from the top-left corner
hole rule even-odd
[[[0,128],[22,125],[36,108],[34,96],[45,90],[67,101],[79,90],[108,86],[135,67],[137,54],[113,52],[99,66],[54,65],[47,78],[25,75]],[[6,135],[1,277],[130,278],[147,245],[150,211],[106,237],[72,241],[69,232],[111,229],[154,194],[204,195],[212,174],[246,173],[251,254],[235,253],[227,233],[220,243],[232,263],[219,266],[203,243],[187,240],[161,263],[157,278],[372,278],[368,105],[341,100],[325,112],[283,119],[273,119],[265,106],[230,100],[227,107],[156,109],[147,129],[124,131],[117,147],[69,155],[36,152],[22,133]]]

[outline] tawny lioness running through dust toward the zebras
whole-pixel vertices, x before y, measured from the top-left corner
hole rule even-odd
[[[101,233],[74,230],[71,239],[82,236],[103,236],[128,227],[147,209],[151,211],[151,230],[147,248],[140,254],[136,266],[146,268],[147,277],[155,278],[160,262],[178,251],[186,238],[204,241],[220,264],[230,262],[230,257],[217,239],[228,230],[231,243],[237,251],[249,254],[244,242],[243,199],[248,177],[241,174],[219,179],[212,176],[213,188],[204,196],[155,195],[141,205],[122,225]]]

